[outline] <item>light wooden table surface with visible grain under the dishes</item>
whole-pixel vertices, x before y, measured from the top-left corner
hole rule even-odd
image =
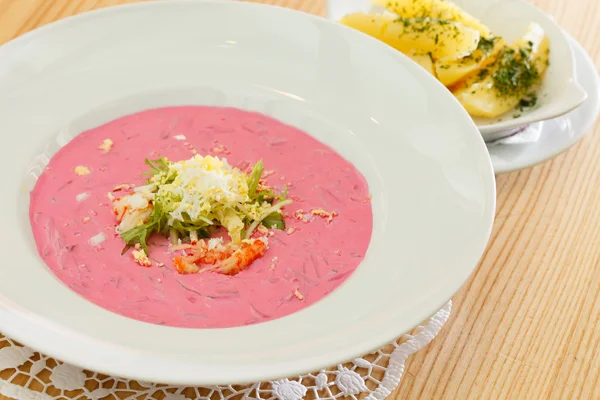
[[[136,0],[0,0],[0,44]],[[267,0],[315,14],[325,0]],[[600,2],[535,0],[600,64]],[[488,250],[396,399],[600,399],[600,127],[557,158],[497,177]],[[1,396],[0,396],[1,398]]]

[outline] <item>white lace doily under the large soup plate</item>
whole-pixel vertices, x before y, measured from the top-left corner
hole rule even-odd
[[[342,397],[382,400],[400,383],[406,359],[428,345],[450,317],[448,302],[426,323],[374,353],[293,379],[207,387],[136,382],[58,362],[0,335],[0,394],[18,400],[49,399],[261,399]]]

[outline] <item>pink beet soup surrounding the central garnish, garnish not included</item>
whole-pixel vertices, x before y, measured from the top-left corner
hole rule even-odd
[[[99,149],[105,139],[110,151]],[[240,168],[262,159],[270,186],[289,185],[286,230],[274,229],[265,255],[235,276],[177,273],[159,235],[149,240],[152,266],[121,255],[107,193],[143,185],[146,158],[196,152]],[[75,174],[77,166],[90,173]],[[304,220],[294,216],[300,209]],[[337,215],[328,221],[311,209]],[[201,106],[147,110],[81,133],[38,179],[30,219],[40,256],[72,290],[126,317],[189,328],[255,324],[314,304],[358,267],[372,231],[367,182],[334,150],[258,113]]]

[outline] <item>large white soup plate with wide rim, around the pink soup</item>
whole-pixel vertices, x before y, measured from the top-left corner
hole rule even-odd
[[[372,241],[339,289],[275,321],[194,330],[113,314],[55,278],[29,227],[36,174],[83,129],[177,104],[264,112],[333,146],[364,174]],[[473,271],[492,227],[489,155],[450,93],[374,39],[288,9],[173,0],[47,25],[0,48],[0,110],[0,330],[99,372],[206,385],[346,361],[441,308]]]

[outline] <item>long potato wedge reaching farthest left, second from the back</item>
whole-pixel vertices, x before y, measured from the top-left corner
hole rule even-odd
[[[429,19],[398,19],[388,15],[354,13],[340,20],[344,25],[373,36],[404,54],[418,51],[435,59],[457,59],[471,54],[479,32],[462,24]]]

